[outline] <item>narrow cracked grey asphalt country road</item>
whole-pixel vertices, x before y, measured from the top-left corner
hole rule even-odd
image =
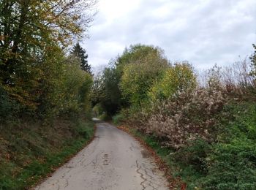
[[[96,137],[37,190],[167,189],[154,160],[129,134],[97,123]]]

